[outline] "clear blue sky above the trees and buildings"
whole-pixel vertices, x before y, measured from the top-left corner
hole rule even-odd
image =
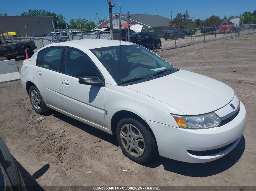
[[[20,3],[20,0],[13,0],[12,5],[14,6],[0,6],[0,13],[7,13],[8,15],[17,15],[28,9],[45,9],[46,11],[61,13],[69,21],[71,18],[90,19],[95,18],[97,12],[98,17],[108,16],[108,2],[107,0],[58,0],[58,1],[32,1],[31,3]],[[119,0],[113,0],[112,4],[116,3],[116,9],[119,12]],[[184,13],[188,10],[189,16],[192,18],[204,19],[211,15],[218,15],[223,18],[224,15],[229,17],[230,15],[240,15],[244,11],[253,11],[256,9],[255,0],[244,0],[244,1],[192,1],[192,0],[121,0],[121,12],[139,14],[157,14],[163,17],[170,18],[171,10],[173,18],[177,13]],[[115,10],[112,10],[115,13]]]

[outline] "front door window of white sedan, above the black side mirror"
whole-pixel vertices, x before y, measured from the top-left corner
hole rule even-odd
[[[84,53],[71,48],[67,48],[64,72],[75,77],[97,76],[101,78],[91,60]]]

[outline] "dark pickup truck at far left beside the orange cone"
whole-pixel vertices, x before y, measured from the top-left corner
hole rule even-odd
[[[8,40],[5,37],[8,37]],[[26,57],[25,50],[27,49],[28,57],[30,58],[34,54],[35,46],[34,40],[17,41],[10,35],[0,36],[0,57],[6,57],[6,59],[15,59],[17,56]]]

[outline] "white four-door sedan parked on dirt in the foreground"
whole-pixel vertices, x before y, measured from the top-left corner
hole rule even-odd
[[[73,40],[38,50],[21,68],[37,113],[50,108],[116,135],[128,158],[159,154],[204,163],[241,140],[246,111],[233,89],[117,40]]]

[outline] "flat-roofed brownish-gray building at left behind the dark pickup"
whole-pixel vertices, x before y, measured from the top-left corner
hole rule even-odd
[[[36,16],[0,16],[0,28],[3,32],[16,32],[18,36],[42,36],[53,32],[53,17]],[[1,31],[2,32],[2,31]]]

